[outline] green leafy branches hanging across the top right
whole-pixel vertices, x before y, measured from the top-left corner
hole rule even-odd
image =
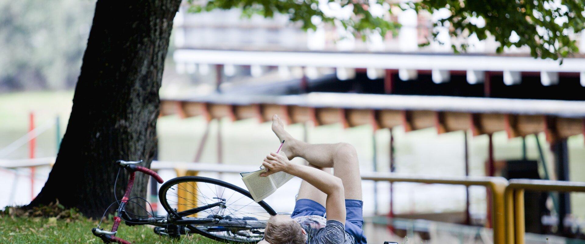
[[[453,37],[476,35],[479,40],[490,35],[500,44],[497,52],[504,47],[527,46],[534,57],[559,59],[579,51],[575,33],[583,30],[585,18],[582,0],[421,0],[416,2],[388,2],[384,0],[208,0],[190,1],[192,12],[213,9],[240,8],[244,15],[258,14],[271,18],[274,13],[288,15],[290,20],[301,22],[302,28],[315,29],[315,18],[326,23],[338,23],[364,38],[368,33],[385,36],[400,25],[390,18],[392,8],[414,9],[417,12],[435,12],[447,9],[450,15],[433,23],[434,27],[449,27]],[[324,10],[326,5],[349,8],[351,16],[334,16]],[[369,11],[376,6],[385,9],[384,15]],[[474,21],[480,19],[480,21]],[[318,21],[320,22],[320,21]],[[438,32],[433,30],[436,39]],[[428,44],[428,43],[426,43]],[[456,52],[465,51],[466,43],[452,46]]]

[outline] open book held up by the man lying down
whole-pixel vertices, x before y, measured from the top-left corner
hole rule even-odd
[[[292,174],[285,173],[284,171],[271,174],[267,177],[260,176],[264,172],[266,172],[266,169],[240,173],[242,181],[244,181],[244,184],[246,184],[248,191],[250,191],[252,198],[256,202],[264,200],[264,198],[273,194],[278,187],[281,187],[294,177]]]

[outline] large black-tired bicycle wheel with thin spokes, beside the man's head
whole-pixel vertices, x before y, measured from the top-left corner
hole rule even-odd
[[[190,223],[186,227],[222,242],[259,242],[264,236],[266,221],[276,215],[266,202],[254,202],[248,191],[207,177],[173,178],[161,185],[159,199],[174,222],[201,221],[201,224]]]

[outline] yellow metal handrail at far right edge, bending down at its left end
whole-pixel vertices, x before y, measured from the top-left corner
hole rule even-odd
[[[505,188],[506,244],[524,244],[524,191],[585,192],[585,182],[512,179]],[[560,221],[563,221],[560,219]]]

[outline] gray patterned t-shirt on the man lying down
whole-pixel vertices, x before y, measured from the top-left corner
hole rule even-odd
[[[327,221],[323,216],[308,215],[294,218],[307,232],[307,244],[354,244],[353,236],[345,232],[342,222]]]

